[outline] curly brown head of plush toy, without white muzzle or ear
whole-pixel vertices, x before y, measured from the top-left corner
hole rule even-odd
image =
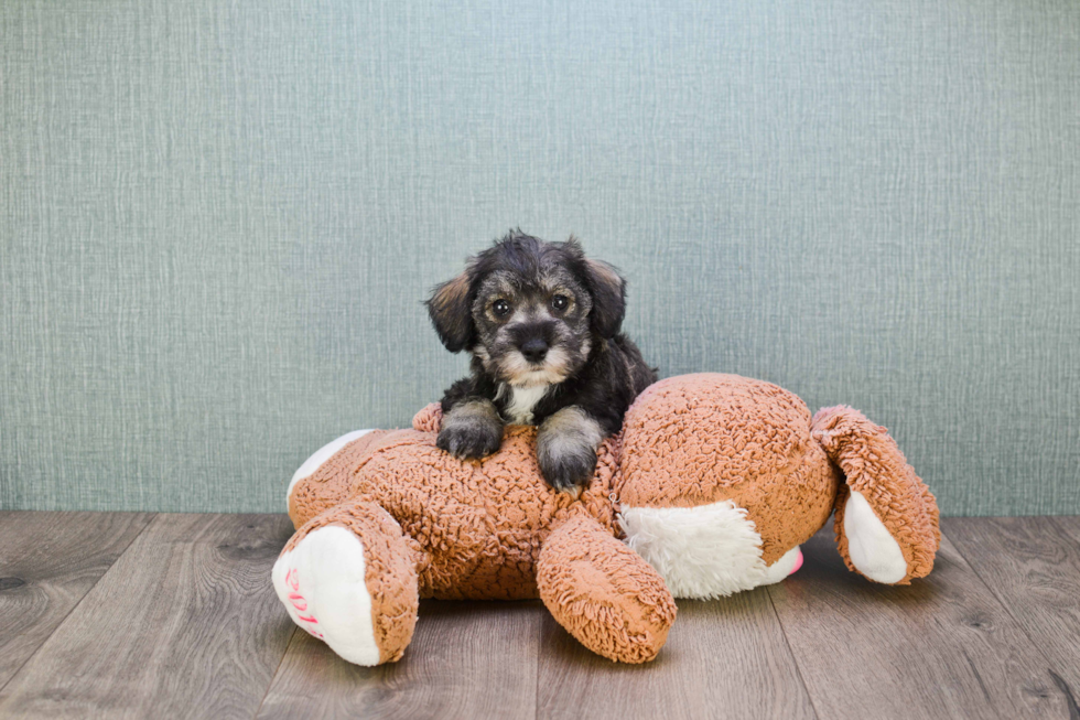
[[[766,565],[829,519],[839,475],[810,437],[810,411],[771,383],[700,373],[647,388],[623,422],[619,501],[695,507],[734,501]]]

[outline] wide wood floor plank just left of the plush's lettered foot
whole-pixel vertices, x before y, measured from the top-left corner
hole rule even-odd
[[[158,515],[0,691],[0,717],[255,714],[293,626],[283,515]]]

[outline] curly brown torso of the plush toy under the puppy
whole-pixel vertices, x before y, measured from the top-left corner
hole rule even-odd
[[[349,497],[374,502],[422,547],[424,598],[537,598],[536,562],[550,527],[584,512],[615,534],[612,482],[618,440],[597,452],[593,481],[576,499],[543,482],[536,428],[507,428],[501,449],[458,460],[435,447],[434,432],[368,433],[342,448],[290,498],[294,524]]]

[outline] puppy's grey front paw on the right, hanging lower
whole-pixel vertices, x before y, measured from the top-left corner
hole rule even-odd
[[[537,432],[537,463],[549,485],[577,495],[596,471],[596,448],[603,440],[597,422],[571,406],[544,420]]]

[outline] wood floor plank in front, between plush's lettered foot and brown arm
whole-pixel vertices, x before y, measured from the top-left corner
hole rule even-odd
[[[531,718],[543,613],[539,602],[425,600],[404,657],[378,667],[298,632],[258,717]]]

